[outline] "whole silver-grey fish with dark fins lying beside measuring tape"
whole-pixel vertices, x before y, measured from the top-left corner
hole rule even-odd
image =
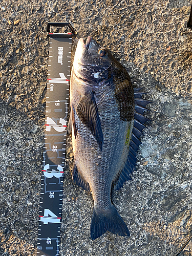
[[[91,239],[106,231],[130,236],[115,208],[112,189],[132,180],[150,103],[134,89],[113,54],[88,36],[78,40],[70,78],[70,118],[76,185],[92,192]]]

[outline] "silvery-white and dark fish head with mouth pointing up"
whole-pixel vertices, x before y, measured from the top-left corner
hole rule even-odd
[[[73,70],[77,78],[89,84],[106,81],[110,76],[110,67],[113,64],[113,55],[104,47],[88,36],[86,44],[80,38],[77,44]]]

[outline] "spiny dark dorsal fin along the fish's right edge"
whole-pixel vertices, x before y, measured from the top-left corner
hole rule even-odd
[[[133,130],[129,145],[129,153],[127,159],[124,163],[124,166],[117,176],[116,181],[114,182],[114,187],[116,190],[120,189],[123,186],[123,183],[127,180],[132,180],[131,174],[135,169],[135,164],[137,161],[136,153],[139,149],[139,145],[141,144],[140,136],[142,135],[142,131],[145,127],[144,123],[150,119],[143,115],[144,111],[149,111],[145,108],[148,103],[152,101],[142,99],[142,95],[144,93],[139,92],[141,88],[134,89],[134,97],[135,97],[135,115],[134,115],[134,124]]]

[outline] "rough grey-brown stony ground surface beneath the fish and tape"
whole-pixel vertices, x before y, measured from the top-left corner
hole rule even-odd
[[[49,39],[47,22],[91,35],[143,87],[152,119],[133,181],[113,202],[131,237],[92,241],[92,195],[73,185],[68,139],[60,255],[174,256],[192,234],[191,0],[0,3],[0,255],[36,255]],[[181,255],[192,255],[190,242]]]

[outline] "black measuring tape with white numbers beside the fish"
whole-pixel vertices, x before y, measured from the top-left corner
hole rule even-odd
[[[50,33],[50,26],[68,26],[72,33]],[[74,29],[69,23],[48,23],[47,33],[50,38],[50,48],[37,238],[38,256],[59,255],[71,46]]]

